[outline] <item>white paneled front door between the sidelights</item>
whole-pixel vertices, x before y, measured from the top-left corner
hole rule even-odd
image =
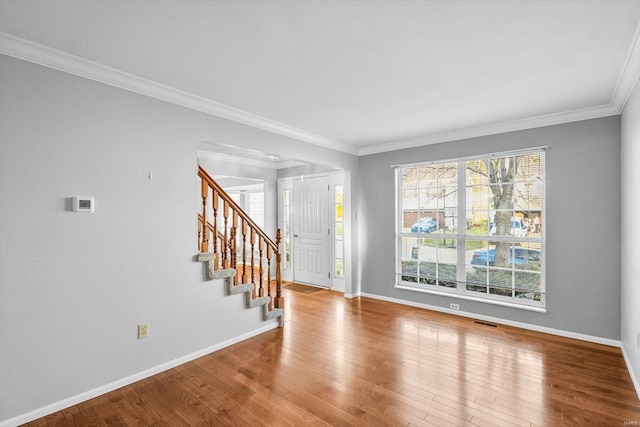
[[[328,287],[329,177],[293,183],[293,280]]]

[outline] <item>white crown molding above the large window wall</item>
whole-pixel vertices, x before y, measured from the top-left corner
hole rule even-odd
[[[439,144],[441,142],[458,141],[462,139],[476,138],[480,136],[496,135],[500,133],[518,130],[534,129],[544,126],[552,126],[563,123],[578,122],[581,120],[597,119],[599,117],[615,116],[620,114],[618,108],[611,104],[597,107],[581,108],[562,113],[547,114],[544,116],[529,117],[526,119],[512,120],[509,122],[495,123],[486,126],[453,130],[448,132],[422,135],[399,141],[386,142],[384,144],[371,145],[358,150],[359,156],[384,153],[387,151],[415,148],[423,145]]]

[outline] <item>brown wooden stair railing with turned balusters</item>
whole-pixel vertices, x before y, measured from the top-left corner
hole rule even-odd
[[[239,281],[243,284],[253,283],[253,297],[255,298],[256,295],[260,297],[268,296],[270,298],[269,310],[273,309],[274,306],[276,308],[284,308],[280,271],[282,261],[280,229],[276,231],[276,241],[274,242],[202,167],[198,168],[198,177],[201,180],[202,197],[202,213],[198,214],[198,249],[201,253],[213,253],[214,270],[222,268],[235,269],[234,284],[237,285]],[[208,207],[209,205],[211,208]],[[220,207],[222,207],[222,212],[220,212]],[[208,219],[209,212],[212,213],[211,220],[213,223]],[[222,222],[222,224],[219,224],[219,222]],[[239,240],[241,241],[239,242]],[[239,253],[242,255],[242,264],[237,259]],[[271,291],[271,266],[274,256],[276,273],[275,297],[272,296]],[[257,277],[256,269],[258,270]],[[250,274],[247,273],[247,270],[249,270]],[[266,284],[264,283],[265,277]]]

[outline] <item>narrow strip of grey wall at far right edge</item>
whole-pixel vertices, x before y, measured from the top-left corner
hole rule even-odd
[[[622,348],[640,396],[640,84],[622,113]]]

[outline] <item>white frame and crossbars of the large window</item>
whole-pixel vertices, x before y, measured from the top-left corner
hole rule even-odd
[[[396,188],[396,283],[395,288],[409,290],[414,292],[421,292],[433,295],[441,295],[448,296],[457,299],[463,300],[472,300],[478,301],[488,304],[501,305],[513,308],[519,308],[529,311],[536,311],[546,313],[546,293],[547,293],[547,284],[546,284],[546,248],[545,248],[545,231],[547,229],[546,222],[547,217],[545,214],[546,207],[546,171],[545,171],[545,150],[548,147],[535,147],[526,150],[516,150],[516,151],[505,151],[499,153],[485,154],[479,156],[472,157],[464,157],[464,158],[455,158],[455,159],[447,159],[447,160],[438,160],[438,161],[425,161],[419,163],[411,163],[404,165],[394,165],[393,168],[396,169],[395,173],[395,188]],[[465,272],[465,251],[466,251],[466,242],[477,240],[477,241],[487,241],[487,236],[475,236],[475,235],[467,235],[466,234],[466,226],[465,227],[457,227],[457,233],[455,235],[452,234],[444,234],[441,232],[441,229],[437,230],[429,234],[429,236],[437,239],[456,239],[457,244],[457,260],[456,260],[456,287],[447,288],[444,286],[433,286],[433,288],[426,288],[423,285],[408,281],[402,280],[402,254],[403,254],[403,238],[416,238],[416,234],[407,233],[403,231],[404,227],[404,212],[403,212],[403,204],[402,204],[402,170],[403,168],[413,167],[413,166],[434,166],[444,163],[457,163],[457,196],[458,196],[458,208],[457,208],[457,221],[458,224],[466,224],[467,221],[467,204],[466,204],[466,162],[471,160],[488,160],[491,158],[499,158],[499,157],[510,157],[515,155],[526,155],[526,154],[540,154],[541,155],[541,170],[542,170],[542,200],[540,206],[541,216],[545,222],[545,226],[542,227],[540,237],[521,237],[516,238],[514,236],[491,236],[491,241],[509,241],[509,242],[531,242],[539,244],[541,247],[541,271],[540,271],[540,301],[535,300],[527,300],[520,299],[515,297],[505,297],[500,295],[493,295],[490,293],[480,293],[475,291],[467,290],[466,283],[466,272]],[[445,231],[446,233],[446,231]]]

